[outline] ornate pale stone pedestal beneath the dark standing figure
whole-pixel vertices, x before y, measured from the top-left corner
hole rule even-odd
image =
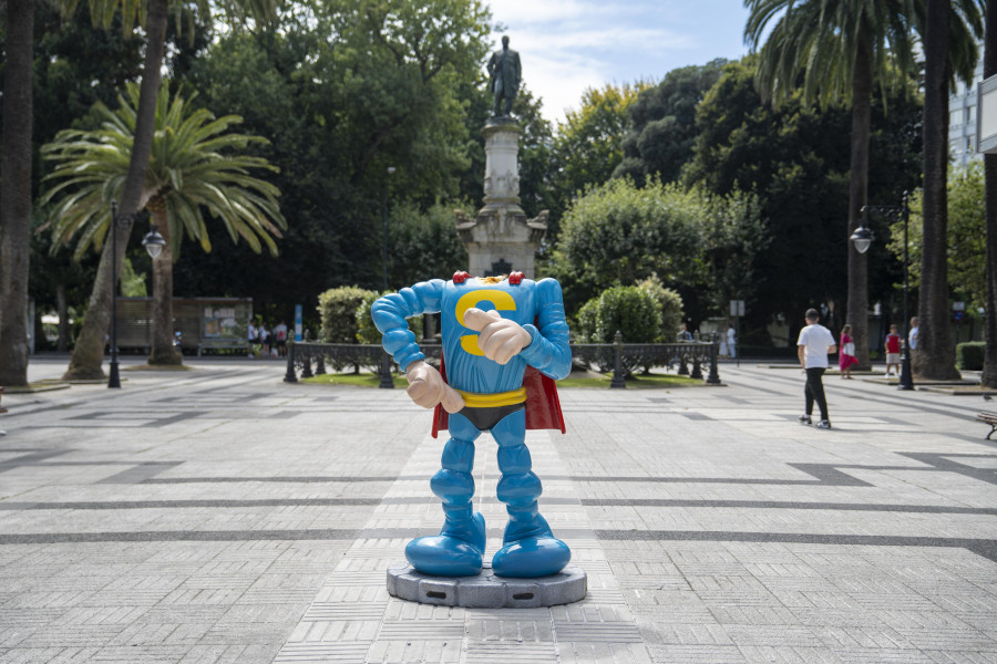
[[[536,277],[536,250],[547,232],[546,210],[527,219],[520,207],[520,136],[510,118],[491,118],[485,136],[484,207],[474,219],[459,215],[458,232],[467,248],[467,271],[477,277],[513,270]]]

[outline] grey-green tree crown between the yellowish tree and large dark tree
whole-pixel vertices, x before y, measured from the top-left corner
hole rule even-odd
[[[664,81],[637,96],[627,108],[624,157],[615,177],[629,176],[638,185],[649,175],[665,183],[678,179],[682,166],[692,157],[696,108],[720,77],[724,64],[726,60],[717,59],[702,66],[672,70]]]

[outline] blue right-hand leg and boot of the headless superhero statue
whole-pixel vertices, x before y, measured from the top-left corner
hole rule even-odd
[[[536,499],[543,491],[526,447],[526,411],[517,411],[492,427],[498,443],[498,500],[508,511],[503,547],[492,558],[500,577],[535,578],[554,574],[572,559],[572,551],[551,532]]]

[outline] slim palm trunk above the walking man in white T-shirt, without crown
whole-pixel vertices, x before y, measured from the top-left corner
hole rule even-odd
[[[852,70],[852,158],[849,177],[849,227],[847,235],[859,227],[862,207],[868,191],[868,134],[872,122],[872,58],[870,45],[862,31],[855,65]],[[845,322],[852,324],[855,340],[857,369],[868,369],[868,257],[859,253],[855,245],[847,241],[849,252],[849,305]]]

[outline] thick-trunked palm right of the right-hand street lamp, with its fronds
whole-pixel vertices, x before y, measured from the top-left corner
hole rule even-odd
[[[924,22],[924,249],[921,255],[921,330],[914,373],[958,378],[948,299],[948,90],[955,76],[973,81],[976,38],[985,0],[927,0]]]

